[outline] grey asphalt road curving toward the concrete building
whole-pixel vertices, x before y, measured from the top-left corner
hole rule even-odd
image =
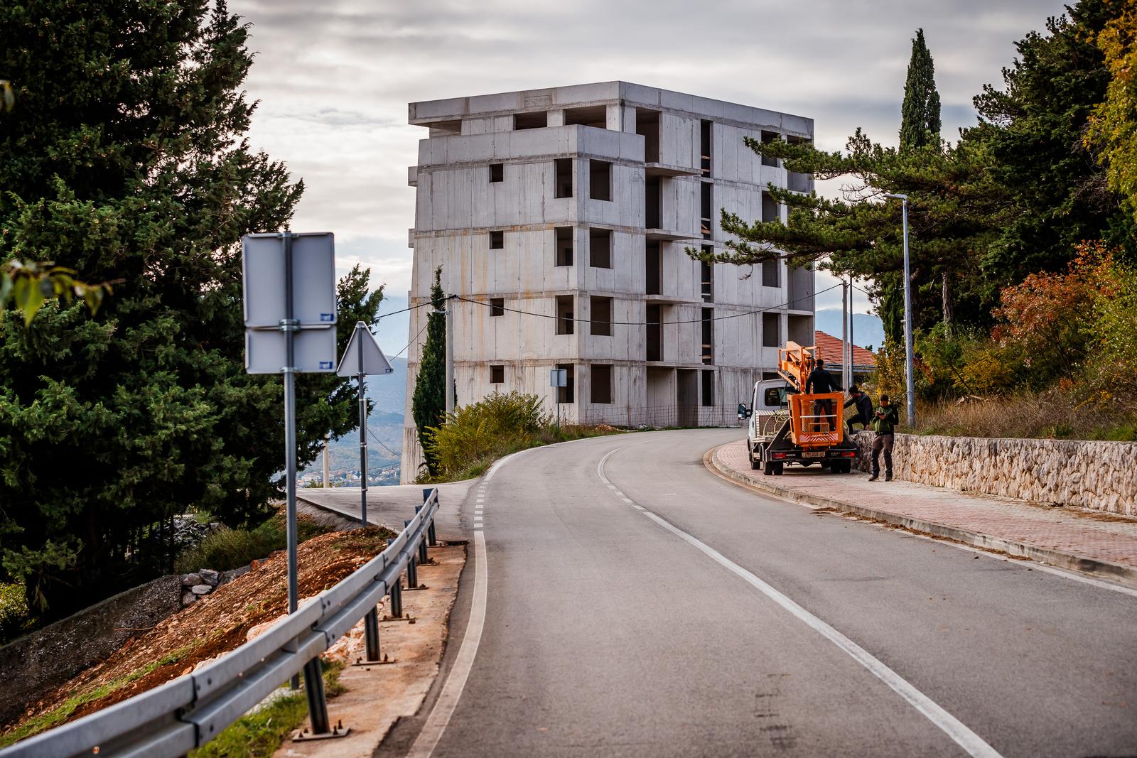
[[[702,463],[737,435],[472,488],[442,676],[376,755],[1137,756],[1137,597],[740,489]]]

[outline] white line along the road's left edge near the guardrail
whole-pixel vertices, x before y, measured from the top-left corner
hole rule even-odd
[[[530,448],[530,450],[536,448]],[[515,452],[490,466],[482,486],[484,488],[493,478],[493,474],[497,473],[501,464],[526,452],[529,450]],[[458,648],[458,655],[454,659],[454,666],[450,667],[450,673],[442,685],[442,691],[439,693],[438,700],[434,701],[434,707],[431,708],[430,715],[426,717],[425,723],[423,723],[423,727],[418,732],[418,736],[415,738],[414,744],[410,745],[407,758],[430,758],[434,753],[434,748],[438,747],[439,741],[442,739],[446,727],[450,724],[454,710],[458,707],[458,700],[462,699],[462,691],[466,686],[466,680],[470,678],[470,670],[474,667],[478,647],[482,642],[482,630],[485,627],[485,595],[488,585],[489,569],[485,566],[485,532],[482,531],[481,525],[478,525],[474,527],[474,597],[470,603],[470,618],[466,620],[466,632],[462,635],[462,647]]]

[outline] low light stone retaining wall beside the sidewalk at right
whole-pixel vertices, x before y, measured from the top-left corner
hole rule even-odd
[[[872,438],[855,435],[862,470]],[[897,434],[893,458],[894,475],[908,482],[1137,516],[1135,442]]]

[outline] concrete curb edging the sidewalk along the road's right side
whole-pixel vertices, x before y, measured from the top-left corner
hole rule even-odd
[[[1063,552],[1051,548],[1039,548],[1038,545],[1034,545],[1028,542],[1006,540],[1003,538],[991,536],[989,534],[982,534],[980,532],[972,532],[958,526],[948,526],[947,524],[939,524],[937,522],[924,520],[922,518],[901,516],[899,514],[893,514],[887,510],[877,510],[874,508],[865,508],[864,506],[855,506],[850,502],[844,502],[841,500],[831,500],[815,494],[796,492],[787,488],[770,484],[756,476],[747,476],[746,474],[736,472],[729,466],[720,463],[720,448],[722,448],[722,445],[712,448],[711,450],[707,450],[706,455],[703,456],[703,465],[711,469],[712,473],[730,480],[731,482],[748,486],[753,490],[770,493],[781,498],[782,500],[788,500],[799,505],[816,506],[819,508],[833,508],[843,513],[872,518],[887,524],[893,524],[894,526],[912,530],[914,532],[922,532],[924,534],[931,534],[932,536],[956,540],[958,542],[963,542],[964,544],[987,550],[1002,550],[1003,552],[1012,556],[1029,558],[1051,566],[1057,566],[1059,568],[1069,568],[1082,574],[1092,574],[1101,578],[1107,578],[1128,586],[1137,588],[1137,567],[1114,564],[1107,560],[1098,560],[1097,558],[1089,558],[1073,552]]]

